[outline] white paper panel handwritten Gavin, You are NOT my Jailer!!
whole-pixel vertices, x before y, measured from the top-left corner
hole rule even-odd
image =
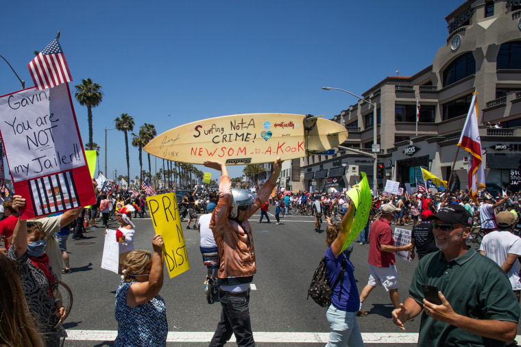
[[[78,131],[71,131],[77,127],[70,98],[66,83],[0,98],[0,132],[15,182],[86,165]]]

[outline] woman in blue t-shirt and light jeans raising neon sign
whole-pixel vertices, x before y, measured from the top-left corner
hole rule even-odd
[[[353,224],[355,207],[348,205],[348,211],[341,223],[335,223],[326,229],[326,273],[332,286],[331,305],[326,317],[330,325],[329,342],[326,347],[363,346],[360,326],[356,311],[360,309],[360,296],[354,281],[354,266],[342,252],[343,244]]]

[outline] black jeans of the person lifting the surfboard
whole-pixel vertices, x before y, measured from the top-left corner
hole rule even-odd
[[[255,346],[250,322],[250,293],[234,294],[219,290],[221,300],[221,321],[217,324],[217,330],[210,341],[209,347],[224,346],[235,334],[237,346]]]

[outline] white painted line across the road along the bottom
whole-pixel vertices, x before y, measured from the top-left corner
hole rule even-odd
[[[67,330],[71,341],[114,341],[117,331],[104,330]],[[210,342],[213,332],[206,331],[169,331],[167,342]],[[312,344],[328,342],[329,333],[291,333],[291,332],[254,332],[255,342]],[[415,344],[417,333],[362,333],[366,344]],[[519,338],[519,336],[518,336]],[[235,342],[232,335],[231,343]]]

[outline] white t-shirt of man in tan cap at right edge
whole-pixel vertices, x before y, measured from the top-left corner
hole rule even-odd
[[[509,253],[518,257],[521,256],[521,238],[508,231],[492,231],[483,237],[479,250],[483,250],[488,258],[502,266]],[[517,259],[507,276],[512,285],[512,290],[521,290]]]

